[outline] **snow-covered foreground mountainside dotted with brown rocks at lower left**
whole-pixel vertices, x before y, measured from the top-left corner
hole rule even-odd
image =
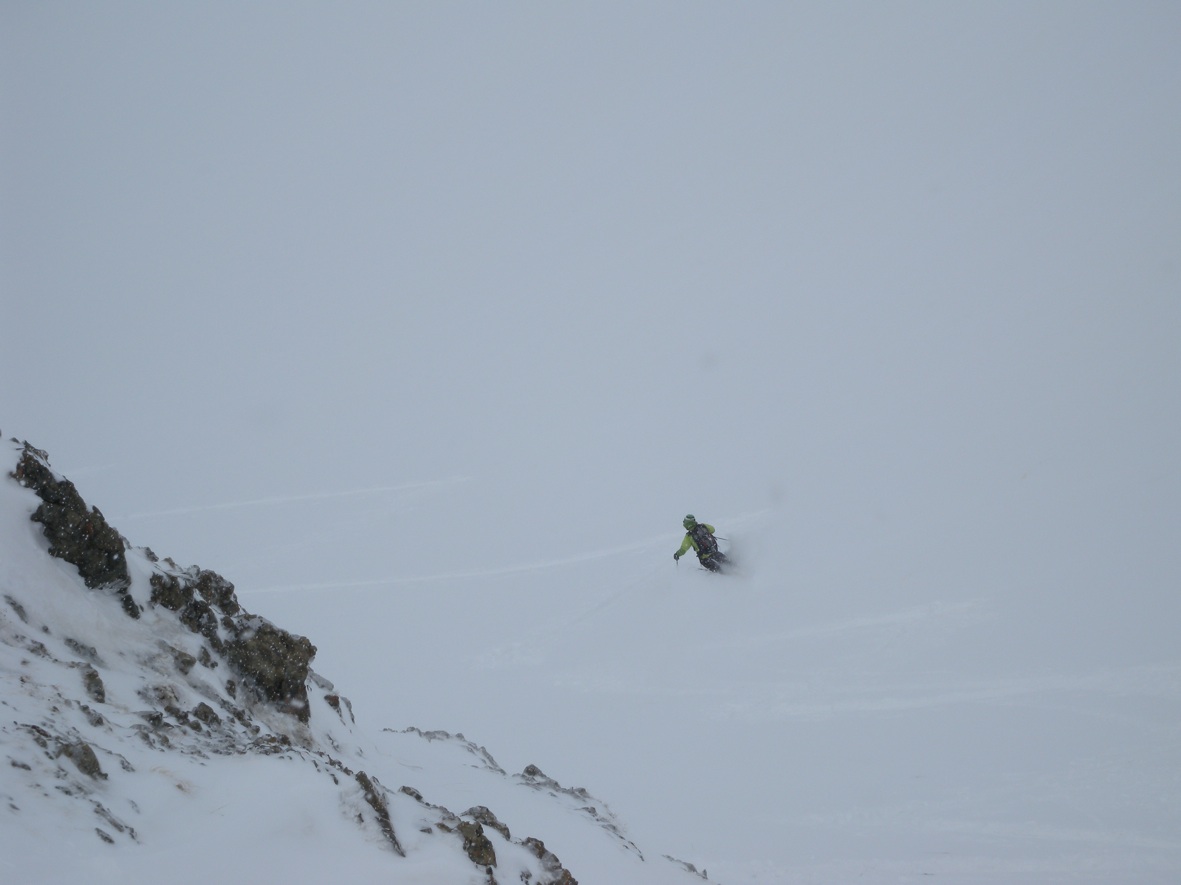
[[[44,453],[4,445],[5,881],[706,878],[463,735],[364,735],[309,639],[128,546]]]

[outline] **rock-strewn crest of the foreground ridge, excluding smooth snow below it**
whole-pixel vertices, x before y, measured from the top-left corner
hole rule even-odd
[[[150,800],[112,799],[110,783],[125,781],[123,795],[136,794],[137,786],[148,795],[146,780],[168,770],[172,754],[201,764],[220,757],[286,761],[329,780],[344,814],[393,855],[435,840],[462,852],[481,881],[576,883],[540,839],[517,838],[489,808],[455,813],[413,786],[391,789],[363,769],[352,707],[311,668],[311,640],[247,612],[234,585],[215,572],[131,547],[53,471],[44,451],[12,443],[17,463],[4,481],[15,480],[39,499],[30,518],[44,540],[30,533],[30,542],[47,541],[46,552],[77,570],[90,598],[78,598],[77,611],[64,614],[46,604],[44,588],[0,573],[0,672],[7,683],[0,751],[9,773],[0,781],[0,807],[9,815],[19,819],[31,795],[52,796],[94,839],[142,844],[139,821],[152,813]],[[79,592],[71,590],[77,578],[60,579],[58,591]],[[481,764],[504,775],[462,735],[403,734],[478,750]],[[534,767],[517,780],[573,799],[642,859],[585,790],[565,789]],[[176,781],[184,792],[183,780]]]

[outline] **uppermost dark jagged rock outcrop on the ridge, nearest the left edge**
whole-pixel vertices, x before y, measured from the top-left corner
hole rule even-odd
[[[120,597],[123,610],[138,618],[139,606],[128,596],[131,575],[128,573],[126,545],[98,508],[87,509],[74,484],[68,480],[58,480],[48,467],[45,453],[28,443],[25,443],[13,477],[41,499],[33,521],[41,523],[50,540],[50,554],[76,566],[91,590],[105,587],[115,591]]]

